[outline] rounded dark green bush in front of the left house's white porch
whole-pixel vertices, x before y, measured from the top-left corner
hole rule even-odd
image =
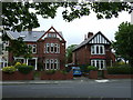
[[[18,70],[21,72],[21,73],[29,73],[30,71],[33,70],[33,67],[32,66],[27,66],[25,63],[24,64],[21,64],[21,66],[18,66]]]

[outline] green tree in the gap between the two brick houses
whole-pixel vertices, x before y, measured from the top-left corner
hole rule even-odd
[[[75,49],[76,44],[71,44],[66,48],[66,62],[71,63],[72,62],[72,51]]]

